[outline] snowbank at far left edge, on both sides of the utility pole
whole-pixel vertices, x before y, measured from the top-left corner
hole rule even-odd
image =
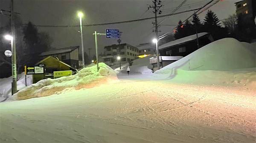
[[[20,73],[17,75],[17,90],[21,90],[26,87],[26,85],[32,84],[32,75],[26,76],[25,73]],[[12,95],[12,76],[9,78],[0,79],[0,101],[4,101]]]

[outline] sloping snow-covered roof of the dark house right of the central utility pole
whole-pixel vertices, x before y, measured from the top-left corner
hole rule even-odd
[[[208,33],[207,32],[198,33],[198,38],[201,37],[201,36],[204,36],[206,34],[208,34]],[[166,44],[163,44],[163,45],[159,46],[158,49],[163,49],[163,48],[171,47],[173,45],[182,44],[182,43],[189,42],[189,41],[192,41],[192,40],[195,40],[195,39],[196,39],[196,34],[190,35],[190,36],[186,36],[186,37],[183,37],[183,38],[180,38],[180,39],[168,42]]]

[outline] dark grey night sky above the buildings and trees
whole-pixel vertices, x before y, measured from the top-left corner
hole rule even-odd
[[[183,0],[162,0],[164,14],[170,14],[168,9],[174,9]],[[201,2],[203,1],[203,2]],[[192,9],[199,8],[210,0],[187,0],[184,5],[192,5]],[[236,12],[235,2],[239,0],[224,0],[212,6],[218,18],[225,19],[230,14]],[[139,18],[154,17],[152,10],[148,10],[147,4],[152,4],[151,0],[14,0],[15,12],[21,13],[24,24],[31,21],[35,25],[79,25],[77,11],[84,13],[83,24],[98,24],[106,22],[119,22],[125,20],[134,20]],[[9,10],[10,0],[0,0],[0,9]],[[189,10],[190,8],[181,8],[177,12]],[[178,14],[166,19],[162,24],[177,24],[179,20],[185,20],[193,12]],[[163,15],[163,14],[161,14]],[[204,18],[205,12],[199,15]],[[159,18],[161,21],[164,18]],[[0,26],[6,25],[7,17],[0,15]],[[151,42],[154,37],[152,33],[154,20],[145,20],[140,22],[122,23],[116,25],[84,27],[84,49],[93,48],[95,52],[94,31],[104,33],[106,28],[118,28],[123,32],[122,43],[138,45],[140,43]],[[161,26],[160,34],[172,31],[174,26]],[[79,27],[70,28],[42,28],[39,31],[46,31],[54,39],[52,47],[64,48],[80,45]],[[17,37],[19,38],[19,37]],[[106,45],[117,44],[116,39],[106,39],[105,36],[99,36],[99,51],[103,53],[103,47]]]

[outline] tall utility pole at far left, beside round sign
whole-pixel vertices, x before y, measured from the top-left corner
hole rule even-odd
[[[12,93],[17,93],[17,67],[16,67],[16,43],[15,43],[15,27],[14,27],[14,18],[13,18],[13,0],[11,0],[11,25],[12,25]]]

